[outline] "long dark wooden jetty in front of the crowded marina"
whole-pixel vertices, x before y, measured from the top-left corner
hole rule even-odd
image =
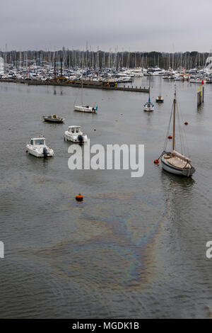
[[[13,82],[18,84],[28,84],[34,86],[71,86],[81,88],[82,81],[81,80],[18,80],[18,79],[0,79],[0,82]],[[91,88],[91,89],[104,89],[104,90],[117,90],[117,91],[134,91],[139,93],[148,93],[149,89],[146,87],[141,88],[138,86],[119,86],[118,84],[114,84],[114,82],[98,82],[98,81],[86,81],[83,80],[83,88]]]

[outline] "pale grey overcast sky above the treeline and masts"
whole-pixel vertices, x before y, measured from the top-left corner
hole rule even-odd
[[[209,52],[211,0],[1,0],[0,48]]]

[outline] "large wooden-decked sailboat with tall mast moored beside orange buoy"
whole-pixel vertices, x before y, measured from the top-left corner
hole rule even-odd
[[[189,159],[189,157],[186,157],[184,154],[177,152],[176,150],[176,90],[175,90],[175,96],[172,104],[172,113],[170,117],[170,123],[173,118],[173,133],[172,133],[172,151],[167,152],[167,139],[165,142],[165,149],[163,150],[163,153],[161,154],[161,162],[162,167],[165,171],[170,172],[171,174],[177,174],[179,176],[192,176],[194,174],[195,169],[194,166],[192,166],[192,161]],[[170,130],[170,124],[168,131]],[[168,132],[167,132],[168,133]],[[182,137],[182,135],[180,135]],[[182,144],[181,144],[182,147]]]

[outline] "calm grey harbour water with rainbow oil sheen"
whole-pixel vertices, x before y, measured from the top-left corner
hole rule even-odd
[[[151,86],[153,100],[165,98],[153,113],[143,112],[148,94],[84,89],[85,102],[98,103],[91,115],[73,112],[80,89],[0,84],[0,317],[212,317],[212,86],[197,110],[197,86],[177,82],[193,179],[153,164],[174,86],[159,77]],[[51,113],[65,124],[42,123]],[[69,170],[69,125],[81,125],[91,145],[144,144],[144,176]],[[42,134],[54,159],[25,153],[30,137]]]

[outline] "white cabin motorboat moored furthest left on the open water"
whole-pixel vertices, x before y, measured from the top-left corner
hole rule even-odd
[[[45,137],[33,137],[28,145],[26,152],[35,157],[53,157],[53,149],[47,147]]]

